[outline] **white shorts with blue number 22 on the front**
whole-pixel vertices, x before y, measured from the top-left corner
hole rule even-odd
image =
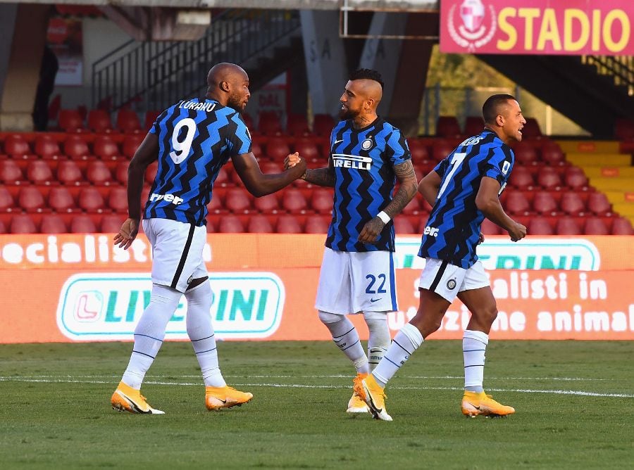
[[[398,310],[391,251],[349,252],[326,247],[315,308],[347,315]]]

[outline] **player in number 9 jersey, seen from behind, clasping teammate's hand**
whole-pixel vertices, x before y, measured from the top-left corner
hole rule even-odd
[[[114,409],[163,414],[140,393],[144,376],[159,352],[166,326],[185,294],[187,335],[205,383],[205,404],[218,410],[246,403],[253,395],[227,386],[218,367],[211,325],[211,286],[202,258],[206,242],[206,205],[213,182],[229,159],[254,196],[282,189],[304,174],[306,162],[262,174],[251,153],[251,136],[240,117],[249,100],[249,77],[239,66],[219,63],[207,75],[204,99],[179,101],[164,110],[139,146],[128,168],[128,212],[114,243],[128,249],[139,231],[139,200],[147,166],[159,160],[143,214],[152,246],[152,291],[135,328],[135,344],[123,379],[112,395]]]

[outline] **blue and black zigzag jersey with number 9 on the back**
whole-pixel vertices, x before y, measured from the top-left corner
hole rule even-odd
[[[164,110],[149,132],[159,137],[159,169],[144,217],[206,224],[220,167],[251,151],[247,125],[235,109],[196,98]]]

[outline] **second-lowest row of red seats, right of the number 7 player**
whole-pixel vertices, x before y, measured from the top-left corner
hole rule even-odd
[[[504,194],[505,193],[505,194]],[[607,215],[612,205],[604,193],[595,191],[504,191],[502,203],[511,215],[568,214]]]

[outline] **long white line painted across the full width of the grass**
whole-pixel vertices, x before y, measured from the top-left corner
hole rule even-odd
[[[32,379],[27,377],[1,377],[0,382],[27,382],[27,383],[114,383],[104,380],[77,380],[71,378],[60,379]],[[170,381],[145,381],[151,385],[175,385],[175,386],[201,386],[200,382],[170,382]],[[240,387],[275,387],[275,388],[350,388],[341,385],[309,385],[303,383],[233,383]],[[461,387],[390,387],[392,390],[463,390]],[[630,393],[599,393],[585,390],[532,390],[530,388],[487,388],[492,392],[520,392],[520,393],[552,393],[555,395],[580,395],[585,397],[604,398],[634,398]]]

